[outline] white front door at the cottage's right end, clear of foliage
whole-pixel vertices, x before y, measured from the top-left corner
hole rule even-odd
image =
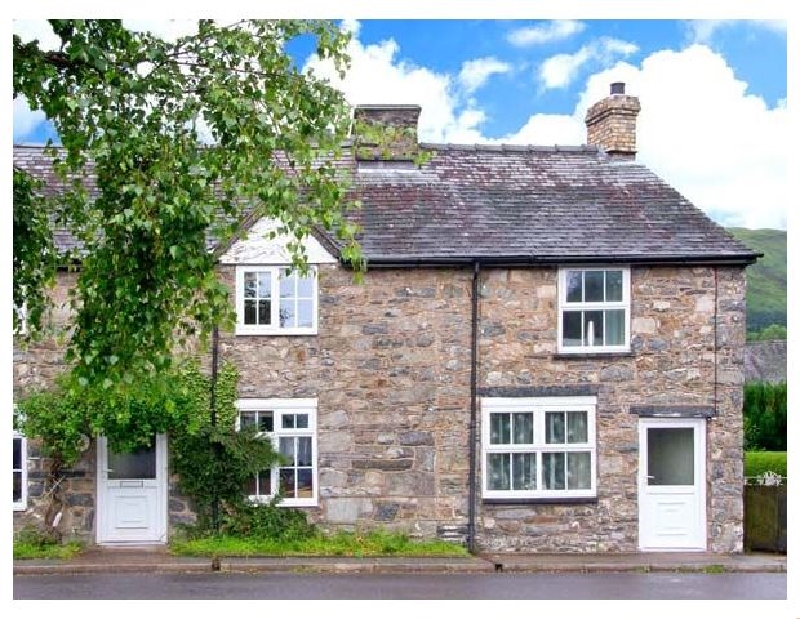
[[[639,548],[706,549],[705,419],[639,420]]]

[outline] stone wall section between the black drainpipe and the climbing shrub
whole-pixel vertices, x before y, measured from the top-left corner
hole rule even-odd
[[[223,268],[233,287],[234,267]],[[243,398],[317,397],[325,526],[466,522],[471,274],[320,267],[317,336],[220,336]]]

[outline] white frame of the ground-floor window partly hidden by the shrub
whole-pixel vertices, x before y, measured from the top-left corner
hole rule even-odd
[[[307,498],[284,497],[279,506],[285,507],[317,507],[319,502],[319,463],[317,454],[317,398],[245,398],[236,400],[236,431],[241,427],[243,412],[272,411],[273,431],[259,432],[258,436],[269,438],[276,452],[280,450],[281,437],[310,436],[311,437],[311,479],[313,496]],[[302,413],[308,415],[307,428],[280,427],[281,413]],[[251,494],[248,499],[253,503],[269,503],[275,498],[275,490],[279,487],[280,464],[275,464],[270,470],[270,488],[272,494]]]

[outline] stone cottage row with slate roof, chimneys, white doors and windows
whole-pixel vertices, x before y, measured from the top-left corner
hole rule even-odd
[[[741,551],[744,276],[758,254],[637,163],[638,112],[615,84],[584,146],[422,143],[417,166],[348,144],[361,285],[324,233],[307,239],[309,277],[281,268],[270,221],[233,243],[219,274],[237,324],[219,352],[241,371],[239,423],[287,456],[247,494],[280,487],[331,529],[479,549]],[[356,110],[414,132],[419,113]],[[15,147],[14,163],[47,178],[41,149]],[[61,368],[54,342],[15,352],[15,392]],[[128,462],[93,440],[66,480],[65,530],[169,539],[187,512],[167,446]],[[15,437],[16,522],[35,511],[40,469]]]

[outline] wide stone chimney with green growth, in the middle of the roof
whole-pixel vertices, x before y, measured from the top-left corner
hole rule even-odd
[[[358,161],[412,161],[417,153],[419,105],[357,105],[353,138]],[[364,134],[364,126],[378,131]]]

